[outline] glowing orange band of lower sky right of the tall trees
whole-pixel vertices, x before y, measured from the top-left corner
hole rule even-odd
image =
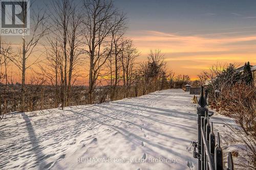
[[[151,49],[159,48],[165,54],[169,69],[195,79],[202,70],[217,62],[256,63],[256,35],[238,33],[244,32],[186,36],[145,30],[131,32],[129,36],[141,51],[141,60]],[[253,41],[255,44],[251,43]]]

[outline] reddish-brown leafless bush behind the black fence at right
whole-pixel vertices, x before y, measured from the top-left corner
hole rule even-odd
[[[212,80],[209,86],[209,105],[221,114],[234,118],[241,130],[233,129],[245,146],[247,169],[256,169],[256,88],[248,83],[248,74],[241,74],[230,64]],[[241,132],[242,131],[242,132]]]

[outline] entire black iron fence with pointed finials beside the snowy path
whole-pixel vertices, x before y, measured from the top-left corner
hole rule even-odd
[[[205,95],[207,98],[206,93]],[[193,141],[193,156],[198,159],[198,170],[233,170],[231,153],[228,153],[227,167],[223,166],[220,135],[218,132],[216,142],[214,127],[212,122],[210,122],[210,117],[214,112],[210,112],[206,108],[207,102],[204,97],[204,87],[201,87],[201,95],[198,104],[200,105],[200,107],[197,108],[198,141]]]

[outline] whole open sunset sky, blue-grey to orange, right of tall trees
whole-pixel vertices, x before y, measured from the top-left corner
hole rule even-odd
[[[192,79],[217,62],[256,64],[255,0],[115,0],[114,5],[127,14],[126,36],[141,52],[138,61],[160,49],[169,70]]]

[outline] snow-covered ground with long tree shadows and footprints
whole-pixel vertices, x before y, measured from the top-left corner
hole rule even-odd
[[[197,169],[192,97],[172,89],[63,111],[7,115],[0,122],[0,169]],[[230,131],[224,126],[230,119],[211,119],[215,129]]]

